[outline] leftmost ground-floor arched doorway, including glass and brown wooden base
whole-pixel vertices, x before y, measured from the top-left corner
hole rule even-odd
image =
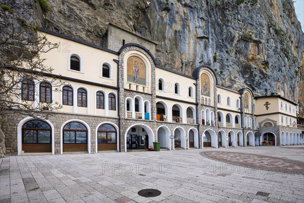
[[[22,151],[52,152],[52,128],[42,120],[29,120],[22,126]]]

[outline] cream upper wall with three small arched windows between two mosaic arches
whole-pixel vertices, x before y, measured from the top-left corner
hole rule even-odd
[[[163,79],[164,81],[164,90],[159,90],[159,79]],[[184,101],[190,101],[195,103],[196,102],[196,86],[194,83],[196,81],[191,78],[187,78],[178,74],[174,74],[172,72],[156,68],[156,95],[164,96],[168,98],[174,98]],[[175,83],[179,84],[179,94],[174,93]],[[188,88],[192,87],[193,90],[193,97],[188,96]]]

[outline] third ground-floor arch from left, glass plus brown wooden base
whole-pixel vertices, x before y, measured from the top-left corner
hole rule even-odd
[[[102,124],[97,129],[97,151],[117,150],[117,130],[111,124]]]

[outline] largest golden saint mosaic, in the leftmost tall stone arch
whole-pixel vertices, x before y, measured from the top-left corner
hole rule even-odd
[[[146,68],[144,62],[137,56],[131,56],[127,62],[127,81],[146,85]]]

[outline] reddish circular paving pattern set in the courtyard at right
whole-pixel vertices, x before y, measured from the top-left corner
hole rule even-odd
[[[237,152],[201,152],[202,156],[225,163],[285,173],[304,174],[304,162],[290,159]]]

